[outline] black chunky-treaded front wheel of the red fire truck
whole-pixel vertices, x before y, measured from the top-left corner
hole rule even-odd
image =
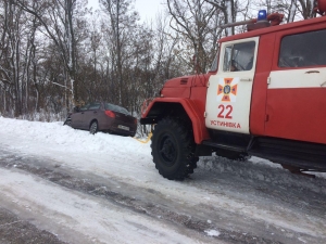
[[[184,180],[197,167],[191,129],[181,120],[166,117],[154,127],[152,156],[160,175],[170,180]]]

